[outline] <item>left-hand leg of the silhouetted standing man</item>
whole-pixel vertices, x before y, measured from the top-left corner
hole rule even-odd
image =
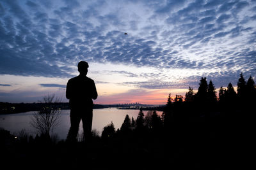
[[[70,129],[68,131],[67,140],[68,141],[77,141],[76,137],[79,130],[79,124],[81,117],[78,114],[74,114],[74,111],[70,111]]]

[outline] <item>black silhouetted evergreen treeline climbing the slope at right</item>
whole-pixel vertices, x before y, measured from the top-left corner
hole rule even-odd
[[[102,138],[115,135],[131,134],[143,131],[155,132],[168,131],[175,122],[205,122],[211,120],[225,120],[230,118],[250,118],[256,103],[256,86],[250,76],[246,82],[243,73],[237,81],[237,92],[232,83],[228,83],[227,89],[220,87],[219,97],[212,81],[207,83],[206,78],[201,78],[198,91],[195,93],[191,87],[185,97],[176,95],[172,99],[168,96],[163,114],[157,115],[156,111],[148,111],[144,117],[143,110],[138,113],[136,120],[126,115],[120,129],[115,131],[114,124],[104,127]]]

